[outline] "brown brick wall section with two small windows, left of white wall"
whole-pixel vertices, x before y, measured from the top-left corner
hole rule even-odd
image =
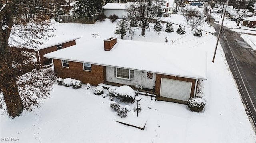
[[[61,60],[53,59],[54,70],[61,78],[73,78],[82,83],[89,83],[97,86],[106,82],[106,67],[92,65],[92,71],[84,71],[83,63],[69,61],[69,68],[62,67]]]

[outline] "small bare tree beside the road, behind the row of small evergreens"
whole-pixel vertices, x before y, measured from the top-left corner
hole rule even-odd
[[[191,26],[191,31],[197,27],[203,24],[204,17],[202,13],[197,13],[195,11],[188,11],[188,14],[186,14],[185,20],[188,25]]]

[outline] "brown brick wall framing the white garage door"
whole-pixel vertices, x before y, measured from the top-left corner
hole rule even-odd
[[[178,77],[178,76],[169,76],[169,75],[164,75],[164,74],[156,74],[155,94],[157,94],[157,97],[160,97],[161,78],[169,78],[169,79],[174,79],[174,80],[192,82],[190,97],[194,96],[196,79],[184,78],[184,77]]]

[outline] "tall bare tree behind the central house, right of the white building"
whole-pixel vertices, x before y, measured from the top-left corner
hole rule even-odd
[[[138,20],[138,26],[142,29],[141,35],[145,35],[149,23],[157,16],[163,4],[164,0],[136,0],[126,7],[127,17]]]

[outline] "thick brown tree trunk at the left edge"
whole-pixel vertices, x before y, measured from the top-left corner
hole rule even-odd
[[[12,67],[12,59],[15,55],[10,54],[8,47],[8,39],[10,37],[14,18],[15,2],[18,1],[8,1],[6,6],[2,9],[0,16],[0,88],[4,95],[7,112],[12,118],[19,116],[23,110],[23,103],[18,93],[17,84],[15,82],[15,71]]]

